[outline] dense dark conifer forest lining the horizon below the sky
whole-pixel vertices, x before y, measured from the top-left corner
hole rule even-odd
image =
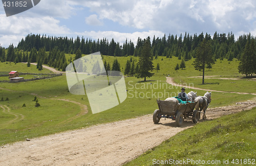
[[[240,73],[246,75],[256,73],[255,67],[247,69],[248,64],[250,64],[249,66],[256,66],[255,37],[244,34],[235,40],[232,32],[227,35],[216,32],[213,37],[207,33],[205,35],[203,33],[200,35],[185,33],[184,36],[180,34],[179,37],[169,34],[168,37],[164,35],[162,38],[154,36],[149,41],[148,38],[142,40],[138,37],[136,45],[131,40],[126,40],[123,44],[120,44],[115,42],[114,39],[109,42],[106,38],[96,41],[83,37],[73,39],[29,34],[18,43],[17,47],[14,47],[13,44],[9,45],[7,49],[0,46],[0,60],[1,62],[10,61],[15,63],[37,62],[65,70],[67,64],[77,59],[77,57],[81,57],[81,54],[90,54],[97,51],[108,56],[141,57],[145,52],[143,46],[147,44],[147,50],[150,50],[147,53],[150,53],[149,57],[152,60],[162,56],[167,58],[175,56],[180,60],[187,61],[192,57],[197,57],[198,48],[204,40],[210,45],[212,59],[223,60],[226,58],[228,61],[232,61],[233,58],[237,58],[241,61],[238,69]],[[69,59],[67,62],[65,53],[76,54],[76,57],[75,59]],[[207,67],[211,68],[211,65],[212,63],[207,64]]]

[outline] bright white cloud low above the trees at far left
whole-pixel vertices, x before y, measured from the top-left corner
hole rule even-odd
[[[8,47],[11,43],[18,43],[26,35],[33,34],[70,34],[66,26],[59,25],[59,20],[46,17],[6,17],[0,15],[0,43]]]

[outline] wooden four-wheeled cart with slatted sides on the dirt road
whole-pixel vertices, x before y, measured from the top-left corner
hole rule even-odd
[[[176,121],[177,126],[181,126],[184,118],[191,118],[194,123],[200,119],[198,110],[194,110],[197,102],[187,102],[181,104],[175,98],[169,98],[170,101],[157,100],[159,109],[156,109],[153,114],[153,122],[159,123],[161,118],[170,118]]]

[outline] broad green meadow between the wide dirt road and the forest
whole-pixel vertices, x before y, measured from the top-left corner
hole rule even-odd
[[[71,57],[74,55],[71,55]],[[67,59],[70,58],[66,54]],[[103,56],[103,62],[111,64],[117,59],[121,66],[121,71],[124,71],[124,66],[127,60],[131,57],[111,57]],[[137,57],[132,57],[138,62]],[[10,108],[4,110],[0,107],[0,145],[23,141],[26,138],[33,138],[60,131],[78,129],[100,123],[119,121],[130,119],[142,115],[153,114],[157,109],[156,99],[165,99],[167,97],[177,96],[180,92],[180,87],[171,86],[166,83],[165,76],[170,75],[175,78],[178,83],[191,83],[195,87],[207,88],[211,90],[233,91],[233,92],[248,92],[254,91],[246,89],[246,86],[253,86],[253,80],[242,79],[243,75],[238,73],[238,61],[226,60],[216,64],[206,71],[206,75],[222,75],[222,77],[238,77],[239,80],[220,80],[207,79],[207,85],[200,84],[200,78],[187,78],[191,76],[200,76],[202,72],[196,71],[191,65],[193,60],[187,61],[186,68],[176,72],[174,67],[181,60],[173,57],[166,59],[158,57],[154,60],[154,65],[160,64],[160,71],[153,71],[155,75],[147,78],[147,81],[142,81],[143,78],[134,76],[125,76],[127,88],[127,98],[118,106],[105,110],[104,112],[92,114],[90,104],[86,95],[73,95],[69,93],[66,74],[62,76],[41,79],[28,82],[0,83],[0,105]],[[51,71],[44,69],[38,71],[36,66],[27,64],[0,63],[0,71],[17,70],[18,72],[31,73],[50,73]],[[221,86],[216,84],[219,81]],[[236,82],[230,83],[230,82]],[[226,89],[223,86],[226,86]],[[234,85],[235,87],[231,87]],[[254,83],[255,87],[255,83]],[[195,91],[187,89],[186,92]],[[205,91],[197,90],[198,95],[203,95]],[[34,96],[37,95],[39,107],[35,107]],[[231,94],[231,93],[212,93],[212,102],[209,107],[217,107],[223,105],[234,104],[238,101],[246,101],[253,98],[251,94]],[[9,100],[6,100],[8,98]],[[88,114],[82,114],[79,105],[55,99],[66,99],[79,102],[88,106]],[[23,105],[26,105],[23,107]],[[15,116],[16,115],[16,116]],[[77,116],[78,115],[78,116]],[[16,118],[18,117],[18,118]],[[14,121],[15,120],[15,121]],[[153,124],[153,122],[152,122]]]

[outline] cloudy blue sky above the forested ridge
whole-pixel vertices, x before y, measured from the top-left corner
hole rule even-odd
[[[256,36],[255,0],[41,0],[7,17],[0,5],[0,45],[16,46],[28,34],[109,39],[179,37],[215,32]],[[183,36],[182,36],[183,37]]]

